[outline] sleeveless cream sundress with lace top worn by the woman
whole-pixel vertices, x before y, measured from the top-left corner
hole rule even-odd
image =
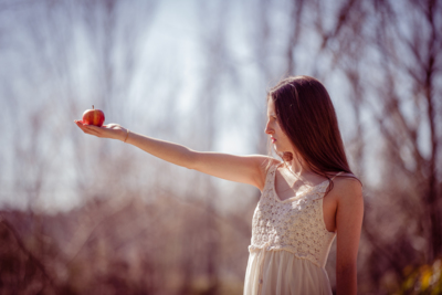
[[[329,181],[281,201],[274,181],[282,164],[269,169],[253,214],[244,295],[333,294],[324,268],[336,235],[323,217]]]

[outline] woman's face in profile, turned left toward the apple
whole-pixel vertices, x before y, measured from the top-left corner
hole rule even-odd
[[[267,124],[264,131],[270,135],[273,147],[276,151],[290,151],[293,154],[292,143],[280,126],[280,120],[276,116],[275,104],[272,98],[269,98],[267,102]]]

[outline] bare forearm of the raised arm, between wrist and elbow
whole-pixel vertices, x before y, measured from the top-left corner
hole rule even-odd
[[[192,169],[194,152],[181,145],[129,131],[126,144],[136,146],[168,162]]]

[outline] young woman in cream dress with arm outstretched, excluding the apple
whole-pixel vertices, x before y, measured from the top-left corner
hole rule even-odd
[[[244,294],[332,294],[325,264],[337,235],[337,294],[357,294],[362,185],[352,175],[336,113],[323,84],[287,77],[267,94],[265,133],[281,160],[200,152],[117,124],[76,125],[134,145],[166,161],[262,191],[252,221]]]

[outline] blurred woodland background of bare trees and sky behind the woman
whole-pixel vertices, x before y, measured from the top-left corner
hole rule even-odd
[[[365,185],[359,293],[441,294],[441,15],[436,0],[1,0],[0,294],[242,294],[260,192],[73,120],[94,104],[196,150],[267,154],[265,91],[298,74],[329,91]],[[336,244],[334,289],[335,262]]]

